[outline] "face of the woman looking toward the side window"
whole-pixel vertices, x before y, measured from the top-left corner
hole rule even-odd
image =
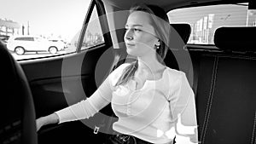
[[[148,13],[142,11],[132,12],[125,25],[125,45],[129,55],[143,57],[155,55],[155,44],[160,45],[159,38],[155,36],[154,27],[150,25]]]

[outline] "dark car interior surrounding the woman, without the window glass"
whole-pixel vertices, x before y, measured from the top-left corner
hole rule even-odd
[[[39,131],[35,120],[90,97],[110,72],[126,62],[127,54],[122,49],[125,29],[115,27],[124,27],[128,16],[120,18],[119,12],[138,2],[157,3],[166,13],[231,3],[248,3],[249,9],[256,9],[253,0],[92,0],[76,52],[15,60],[1,45],[0,143],[106,141],[116,120],[110,105],[89,119],[49,124]],[[95,8],[104,43],[81,49]],[[189,44],[192,27],[187,23],[171,21],[170,26],[171,46],[164,61],[166,66],[185,72],[194,90],[200,143],[255,144],[256,26],[219,27],[214,32],[214,45]]]

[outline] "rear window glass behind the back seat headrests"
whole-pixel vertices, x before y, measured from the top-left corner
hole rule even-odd
[[[171,23],[189,23],[188,43],[214,44],[213,35],[220,26],[256,26],[256,13],[247,3],[175,9],[168,13]]]

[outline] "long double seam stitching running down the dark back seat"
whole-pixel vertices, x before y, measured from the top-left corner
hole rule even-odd
[[[211,83],[211,89],[210,89],[210,94],[209,94],[209,99],[207,101],[207,111],[205,113],[205,116],[207,115],[207,117],[205,118],[204,121],[204,125],[203,125],[203,132],[202,132],[202,143],[205,141],[205,136],[207,133],[207,125],[208,125],[208,121],[210,118],[210,114],[211,114],[211,107],[212,107],[212,97],[214,94],[214,88],[215,88],[215,82],[216,82],[216,77],[217,77],[217,70],[218,70],[218,56],[215,56],[214,59],[214,64],[213,64],[213,69],[212,69],[212,83]]]

